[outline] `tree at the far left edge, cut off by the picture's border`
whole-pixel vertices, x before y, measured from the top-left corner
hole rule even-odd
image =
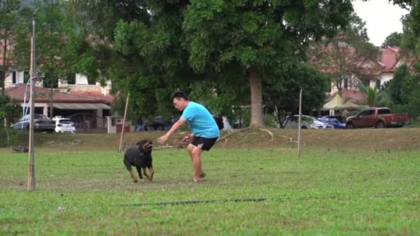
[[[19,26],[19,0],[0,0],[0,86],[4,94],[5,79],[12,69],[12,48],[15,46],[15,30]]]

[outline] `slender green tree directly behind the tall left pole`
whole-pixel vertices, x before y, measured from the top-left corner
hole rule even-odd
[[[36,12],[35,51],[37,72],[41,75],[44,87],[50,88],[50,117],[53,117],[54,88],[59,78],[68,74],[72,60],[68,57],[68,43],[74,26],[66,19],[64,4],[61,1],[36,1],[32,9]],[[26,28],[18,36],[16,61],[22,68],[30,64],[30,37],[32,19],[26,14]]]

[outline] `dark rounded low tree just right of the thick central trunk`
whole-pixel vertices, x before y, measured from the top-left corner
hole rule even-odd
[[[300,63],[286,75],[265,81],[263,88],[265,111],[274,115],[276,123],[283,128],[286,116],[298,112],[300,88],[303,110],[315,110],[325,102],[328,79],[316,68]]]

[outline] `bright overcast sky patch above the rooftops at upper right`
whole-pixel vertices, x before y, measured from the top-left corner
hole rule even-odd
[[[375,46],[381,46],[392,32],[403,32],[401,17],[408,13],[388,0],[353,1],[354,11],[366,22],[367,35]]]

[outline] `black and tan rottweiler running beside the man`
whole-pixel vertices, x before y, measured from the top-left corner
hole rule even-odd
[[[152,148],[153,142],[151,139],[143,139],[137,143],[137,146],[128,148],[126,153],[124,153],[124,165],[131,174],[134,182],[137,182],[137,178],[134,175],[134,170],[132,166],[135,166],[137,172],[139,173],[140,179],[143,179],[143,175],[152,181],[153,179],[153,165],[152,165]],[[150,175],[146,173],[146,168],[149,169]]]

